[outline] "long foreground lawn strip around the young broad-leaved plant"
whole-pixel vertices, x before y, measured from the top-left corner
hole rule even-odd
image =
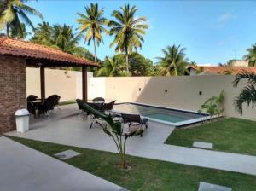
[[[127,156],[132,166],[131,170],[121,171],[117,167],[119,156],[116,153],[73,148],[16,137],[10,138],[50,156],[73,149],[82,155],[67,159],[65,162],[129,190],[197,191],[200,181],[228,186],[233,188],[233,191],[256,190],[256,176],[133,156]]]

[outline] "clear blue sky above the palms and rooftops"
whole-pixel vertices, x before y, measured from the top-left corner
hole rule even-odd
[[[125,3],[136,5],[137,16],[146,16],[149,29],[144,36],[143,48],[138,52],[157,61],[162,50],[176,44],[186,48],[189,61],[199,65],[218,65],[230,59],[241,59],[246,49],[256,43],[256,1],[85,1],[85,0],[38,0],[28,4],[38,9],[44,21],[49,24],[78,25],[77,13],[84,13],[84,6],[98,3],[104,8],[104,16],[112,19],[111,13]],[[31,17],[36,26],[42,20]],[[114,47],[109,48],[113,37],[103,35],[104,44],[97,48],[100,59],[115,54]],[[93,51],[93,44],[80,45]]]

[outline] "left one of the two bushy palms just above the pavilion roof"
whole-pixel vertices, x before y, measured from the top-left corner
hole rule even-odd
[[[48,22],[42,22],[38,24],[38,27],[35,28],[34,35],[31,38],[31,41],[34,43],[41,43],[44,45],[51,45],[53,29],[49,26]]]

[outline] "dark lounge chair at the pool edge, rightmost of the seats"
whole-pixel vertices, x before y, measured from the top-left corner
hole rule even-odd
[[[131,131],[131,126],[139,126],[143,131],[148,129],[148,119],[141,119],[140,115],[137,114],[125,114],[122,113],[122,119],[124,124],[128,124],[129,131]],[[143,136],[143,132],[141,134]]]

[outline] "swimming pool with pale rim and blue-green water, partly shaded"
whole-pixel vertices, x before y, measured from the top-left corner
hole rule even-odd
[[[201,122],[202,119],[209,119],[205,113],[181,110],[171,107],[160,107],[142,103],[124,102],[116,103],[113,107],[116,113],[140,114],[150,120],[173,126],[183,126]]]

